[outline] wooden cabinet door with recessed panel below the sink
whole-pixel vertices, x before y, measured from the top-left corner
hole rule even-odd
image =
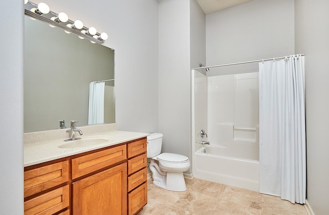
[[[74,182],[72,214],[126,214],[126,169],[123,163]]]

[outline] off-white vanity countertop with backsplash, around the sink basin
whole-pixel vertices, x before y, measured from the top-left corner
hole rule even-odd
[[[59,146],[65,143],[74,143],[74,141],[64,142],[64,140],[69,139],[69,132],[66,131],[69,129],[24,133],[24,167],[113,146],[149,135],[149,133],[118,131],[116,124],[92,125],[79,128],[82,130],[83,135],[79,136],[77,134],[78,138],[92,139],[96,137],[108,139],[109,141],[77,148],[60,148]]]

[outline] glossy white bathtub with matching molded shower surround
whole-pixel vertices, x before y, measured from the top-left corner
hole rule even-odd
[[[193,71],[192,81],[194,177],[259,191],[258,73]]]

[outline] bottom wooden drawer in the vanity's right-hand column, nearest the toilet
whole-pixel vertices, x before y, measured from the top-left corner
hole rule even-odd
[[[128,214],[136,214],[148,203],[148,186],[145,182],[128,193]]]

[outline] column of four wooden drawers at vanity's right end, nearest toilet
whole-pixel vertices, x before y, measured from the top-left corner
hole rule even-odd
[[[147,139],[127,144],[128,214],[136,214],[148,203]]]

